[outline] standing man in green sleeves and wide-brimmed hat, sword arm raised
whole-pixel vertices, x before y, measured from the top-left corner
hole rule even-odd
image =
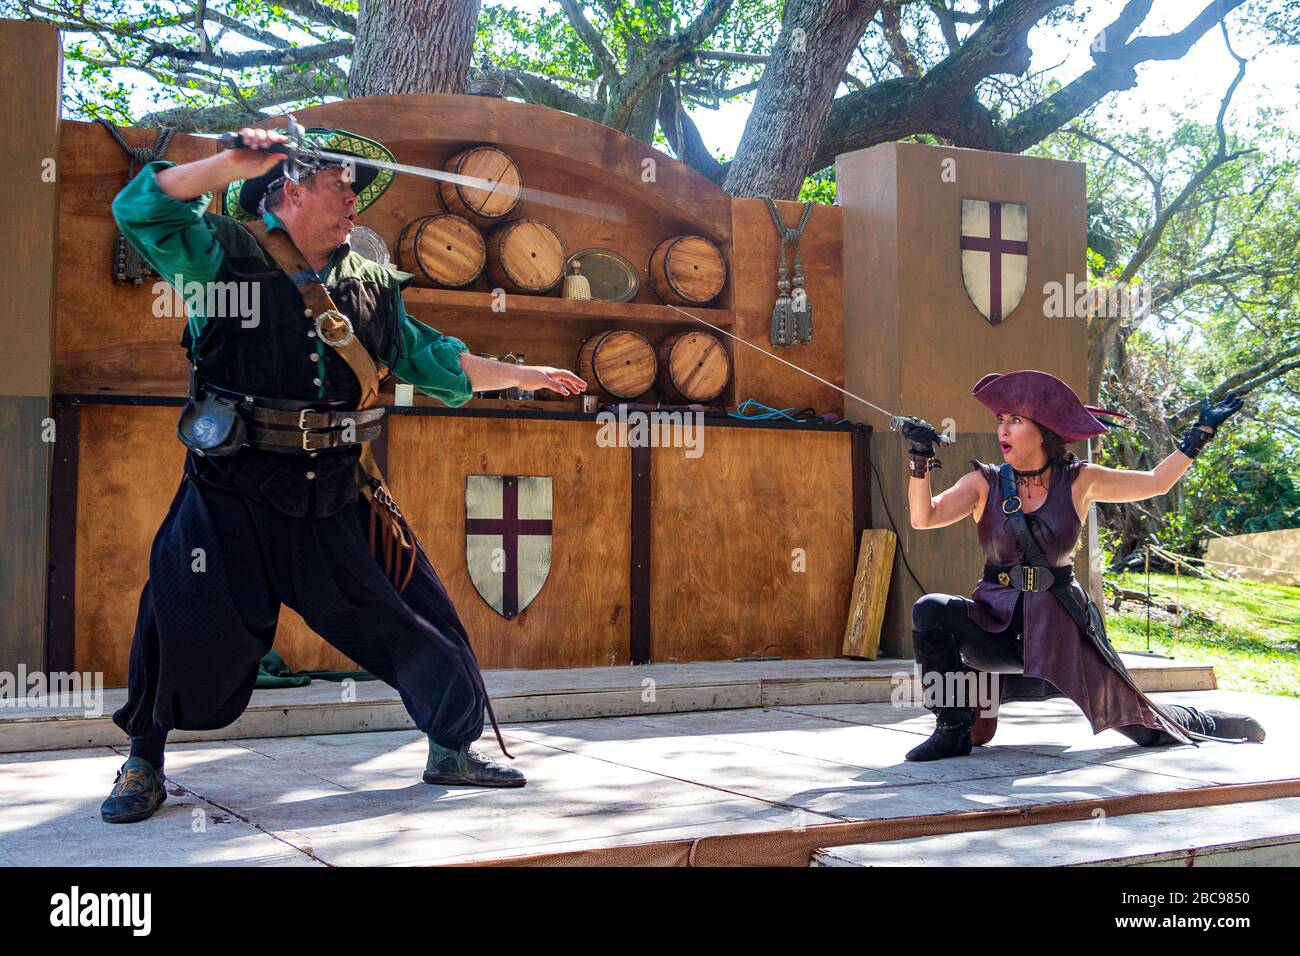
[[[168,731],[239,717],[281,604],[396,688],[429,740],[425,782],[521,787],[519,770],[473,747],[491,705],[460,618],[369,451],[384,411],[373,403],[394,373],[451,407],[473,392],[567,395],[585,382],[471,355],[406,313],[411,276],[347,242],[391,172],[286,156],[273,130],[239,137],[203,160],[147,165],[113,202],[122,234],[187,297],[191,395],[177,428],[185,475],[153,540],[127,700],[113,714],[131,752],[101,816],[130,822],[161,805]],[[306,138],[393,161],[346,130]],[[226,216],[205,212],[218,189]],[[238,289],[228,303],[251,291],[256,308],[222,315],[195,287]]]

